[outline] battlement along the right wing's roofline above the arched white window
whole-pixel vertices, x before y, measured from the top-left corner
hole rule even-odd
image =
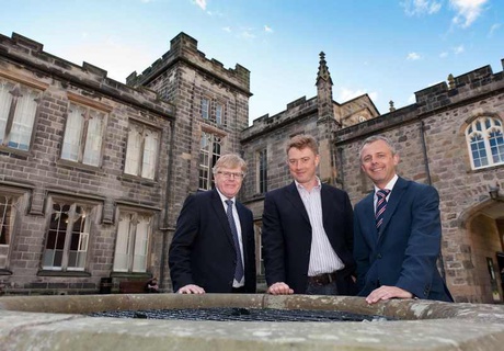
[[[504,67],[504,59],[501,59]],[[470,72],[454,77],[448,76],[448,82],[439,82],[415,92],[420,113],[434,111],[467,99],[504,88],[502,71],[492,72],[490,65]]]

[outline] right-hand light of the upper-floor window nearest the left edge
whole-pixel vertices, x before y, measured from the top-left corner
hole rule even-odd
[[[18,99],[12,129],[9,137],[9,147],[20,150],[27,150],[30,148],[38,99],[38,91],[27,88],[21,89],[21,97]]]

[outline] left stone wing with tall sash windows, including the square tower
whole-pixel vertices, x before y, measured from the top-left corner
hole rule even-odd
[[[181,33],[127,84],[0,36],[0,292],[82,294],[158,276],[184,199],[240,149],[250,72]],[[112,286],[111,286],[112,285]]]

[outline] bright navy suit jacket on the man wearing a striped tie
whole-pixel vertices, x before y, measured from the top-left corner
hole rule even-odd
[[[390,285],[419,298],[453,301],[436,265],[442,237],[436,189],[399,178],[379,233],[374,192],[355,206],[354,215],[358,295]]]

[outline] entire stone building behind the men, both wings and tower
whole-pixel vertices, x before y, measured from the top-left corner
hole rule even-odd
[[[290,182],[286,140],[316,136],[321,180],[355,204],[373,188],[358,148],[383,134],[400,174],[439,191],[439,270],[456,299],[502,302],[502,71],[450,76],[382,115],[367,94],[333,100],[323,53],[314,78],[316,97],[249,126],[250,71],[206,58],[184,33],[126,84],[0,35],[1,292],[96,293],[105,281],[116,291],[153,275],[170,291],[167,251],[183,201],[211,188],[215,160],[230,151],[249,163],[240,197],[254,213],[262,273],[263,199]]]

